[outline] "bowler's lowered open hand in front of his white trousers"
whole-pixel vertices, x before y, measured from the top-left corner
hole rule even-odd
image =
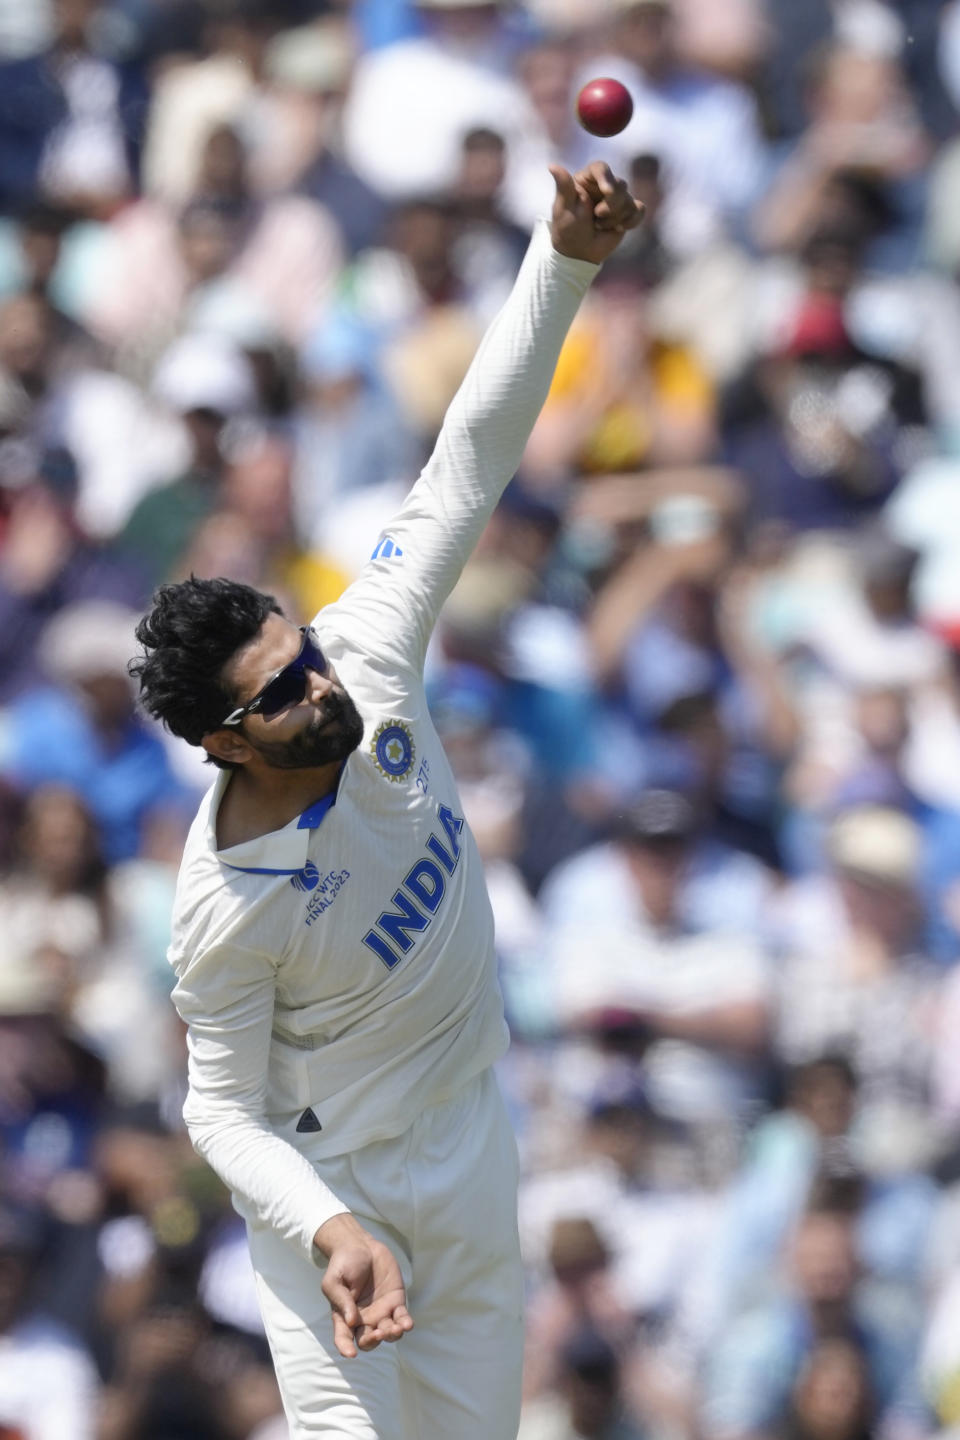
[[[344,1359],[413,1329],[400,1266],[353,1215],[334,1215],[314,1243],[328,1257],[322,1292],[334,1316],[334,1345]]]

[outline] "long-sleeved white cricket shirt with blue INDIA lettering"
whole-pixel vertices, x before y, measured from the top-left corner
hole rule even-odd
[[[187,1128],[240,1214],[311,1256],[345,1210],[314,1162],[403,1133],[507,1047],[482,865],[423,658],[594,274],[538,225],[420,478],[314,621],[364,721],[335,799],[219,851],[222,772],[187,838],[170,946]],[[296,1129],[308,1107],[320,1130]]]

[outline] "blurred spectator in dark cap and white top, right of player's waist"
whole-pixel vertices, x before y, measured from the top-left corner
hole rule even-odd
[[[557,1020],[574,1034],[615,1014],[632,1021],[656,1107],[717,1133],[761,1083],[769,975],[750,926],[757,870],[711,845],[682,795],[648,791],[619,844],[574,857],[544,888]],[[707,919],[717,901],[721,926]]]

